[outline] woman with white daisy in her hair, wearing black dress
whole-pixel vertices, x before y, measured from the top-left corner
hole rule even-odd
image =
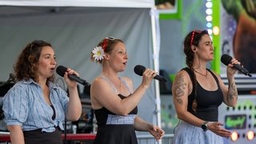
[[[98,131],[94,144],[136,144],[135,130],[149,131],[157,140],[164,131],[137,116],[138,102],[156,75],[146,69],[142,83],[133,90],[130,78],[119,77],[126,70],[128,56],[121,39],[104,38],[91,52],[91,59],[102,64],[102,74],[90,87],[90,98]]]

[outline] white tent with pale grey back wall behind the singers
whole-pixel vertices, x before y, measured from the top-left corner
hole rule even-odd
[[[13,72],[13,65],[26,43],[34,39],[50,42],[58,65],[77,70],[91,82],[101,72],[90,61],[90,50],[102,38],[113,36],[126,43],[128,66],[122,75],[134,80],[140,64],[158,71],[158,14],[154,0],[6,0],[0,1],[0,81]],[[63,88],[62,78],[57,82]],[[139,104],[138,115],[160,125],[160,98],[157,81]]]

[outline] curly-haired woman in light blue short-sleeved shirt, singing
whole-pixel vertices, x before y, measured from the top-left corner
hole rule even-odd
[[[77,82],[67,75],[77,72],[68,68],[65,90],[54,84],[56,56],[50,43],[35,40],[26,45],[14,66],[18,82],[3,98],[3,110],[13,144],[62,144],[65,116],[76,121],[82,106]]]

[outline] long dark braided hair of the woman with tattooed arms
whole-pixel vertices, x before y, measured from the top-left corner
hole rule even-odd
[[[193,68],[193,60],[194,60],[194,51],[191,49],[191,46],[198,46],[199,42],[201,41],[202,36],[208,34],[207,30],[193,30],[190,31],[189,34],[186,35],[185,40],[183,42],[184,46],[184,53],[186,54],[186,66],[188,66],[192,72],[192,84],[194,88],[194,100],[192,102],[192,109],[196,112],[198,103],[196,101],[197,96],[197,79],[196,75],[194,74]],[[209,34],[208,34],[209,35]]]

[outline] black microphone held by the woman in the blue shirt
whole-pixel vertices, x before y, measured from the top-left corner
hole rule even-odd
[[[64,74],[66,72],[66,67],[65,66],[58,66],[56,69],[56,72],[58,75],[64,77]],[[81,83],[82,85],[86,85],[86,86],[90,86],[90,83],[86,82],[86,80],[79,78],[77,75],[75,74],[68,74],[68,78],[70,78],[71,80]]]

